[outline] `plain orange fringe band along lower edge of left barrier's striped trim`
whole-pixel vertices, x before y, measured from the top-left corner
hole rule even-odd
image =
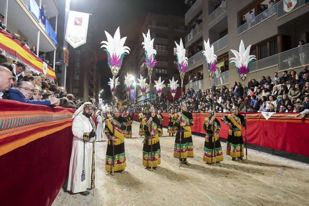
[[[34,140],[37,140],[37,139],[39,139],[41,137],[50,135],[50,134],[52,134],[54,132],[58,132],[61,129],[64,129],[64,128],[70,127],[70,126],[72,126],[72,122],[64,124],[64,125],[61,125],[61,126],[56,127],[56,128],[47,129],[45,131],[37,132],[37,133],[32,134],[32,135],[30,135],[28,137],[24,137],[24,138],[21,138],[19,140],[10,142],[10,143],[8,143],[6,145],[2,145],[2,146],[0,146],[0,156],[2,156],[3,154],[6,154],[8,152],[11,152],[12,150],[17,149],[17,148],[19,148],[19,147],[21,147],[23,145],[26,145],[26,144],[34,141]]]

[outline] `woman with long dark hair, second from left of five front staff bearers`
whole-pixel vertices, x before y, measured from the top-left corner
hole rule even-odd
[[[146,118],[142,120],[142,129],[145,132],[145,139],[143,141],[143,166],[149,168],[151,167],[152,162],[153,169],[158,170],[158,165],[161,163],[161,148],[159,141],[159,133],[161,130],[160,120],[158,119],[153,106],[150,111],[147,112]]]

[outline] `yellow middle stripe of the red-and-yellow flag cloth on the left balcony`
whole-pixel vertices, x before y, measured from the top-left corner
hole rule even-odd
[[[41,73],[43,73],[43,61],[35,56],[30,50],[27,51],[23,48],[22,44],[18,41],[13,39],[13,37],[9,37],[7,32],[4,30],[0,30],[0,48],[3,48],[9,53],[12,53],[22,59],[23,61],[27,62],[33,68],[37,69]],[[47,69],[47,76],[57,79],[55,71],[48,66]]]

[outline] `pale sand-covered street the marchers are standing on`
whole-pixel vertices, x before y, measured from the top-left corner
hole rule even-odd
[[[252,149],[248,164],[234,162],[221,142],[224,160],[210,166],[203,162],[204,138],[193,135],[191,166],[179,170],[175,137],[164,128],[161,164],[151,172],[142,165],[138,126],[134,121],[133,137],[125,139],[125,174],[105,174],[107,141],[97,142],[95,196],[68,193],[65,183],[52,205],[308,205],[308,164]]]

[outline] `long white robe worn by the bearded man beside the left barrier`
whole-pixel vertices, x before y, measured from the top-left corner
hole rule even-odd
[[[87,191],[91,188],[91,170],[92,170],[92,143],[85,142],[85,180],[81,181],[83,171],[84,142],[85,132],[91,132],[92,125],[89,119],[83,114],[79,114],[73,120],[73,144],[70,159],[70,169],[67,190],[73,193]],[[91,137],[89,141],[93,141]]]

